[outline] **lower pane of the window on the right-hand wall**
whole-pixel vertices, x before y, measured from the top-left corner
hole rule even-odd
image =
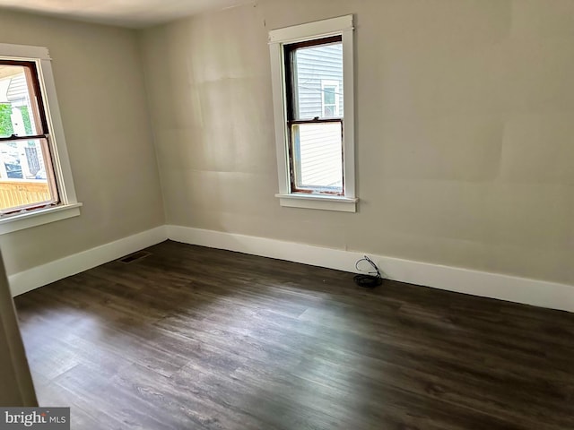
[[[292,126],[295,188],[343,193],[342,124]]]

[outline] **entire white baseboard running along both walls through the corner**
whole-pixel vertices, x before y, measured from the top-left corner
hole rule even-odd
[[[244,236],[199,228],[161,226],[48,262],[28,271],[14,273],[8,276],[10,289],[13,296],[17,296],[50,282],[116,260],[126,254],[135,253],[147,246],[159,244],[167,238],[191,245],[227,249],[351,272],[356,271],[355,262],[364,255],[358,252],[303,245],[265,237]],[[574,312],[574,286],[382,255],[370,255],[370,258],[391,280]]]

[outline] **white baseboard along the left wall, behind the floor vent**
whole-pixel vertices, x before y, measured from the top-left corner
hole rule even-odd
[[[91,248],[82,253],[74,254],[21,271],[8,276],[10,290],[13,296],[18,296],[34,288],[39,288],[57,280],[62,280],[81,271],[111,262],[126,254],[135,253],[148,246],[159,244],[166,240],[166,228],[161,226],[143,231],[133,236]]]

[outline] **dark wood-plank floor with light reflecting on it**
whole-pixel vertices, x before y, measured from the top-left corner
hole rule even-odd
[[[164,242],[15,299],[86,429],[573,429],[574,314]]]

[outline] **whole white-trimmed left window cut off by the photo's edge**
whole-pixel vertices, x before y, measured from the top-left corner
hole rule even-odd
[[[0,234],[79,215],[48,49],[0,44]]]

